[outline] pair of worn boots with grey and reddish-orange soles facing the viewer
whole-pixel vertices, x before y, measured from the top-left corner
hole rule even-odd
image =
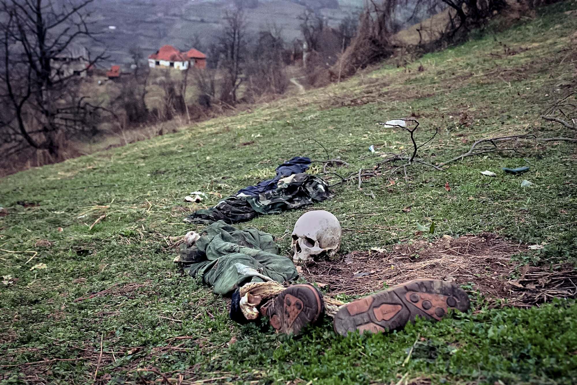
[[[342,306],[335,315],[338,334],[384,332],[403,328],[417,316],[440,320],[448,309],[465,312],[469,297],[459,286],[436,279],[414,279]],[[278,332],[297,335],[322,319],[323,296],[312,285],[293,285],[261,311]]]

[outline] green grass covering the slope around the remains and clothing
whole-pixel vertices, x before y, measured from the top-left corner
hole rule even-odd
[[[469,313],[436,324],[419,321],[393,334],[343,338],[326,319],[308,334],[288,338],[273,334],[267,323],[230,322],[226,300],[181,275],[172,260],[177,237],[197,228],[182,222],[186,212],[200,208],[185,204],[184,196],[215,193],[203,202],[210,205],[218,201],[216,193],[254,184],[295,155],[326,158],[313,139],[350,165],[331,171],[349,175],[379,159],[364,159],[371,144],[383,152],[408,148],[406,133],[375,124],[411,113],[421,122],[419,143],[429,137],[427,130],[439,129],[422,153],[430,162],[461,154],[485,136],[571,136],[539,115],[553,98],[575,89],[577,57],[569,36],[577,19],[563,13],[575,8],[575,2],[550,6],[533,21],[428,54],[407,69],[383,65],[251,113],[3,178],[0,205],[8,215],[0,216],[0,275],[12,279],[0,285],[0,365],[78,360],[2,366],[0,383],[91,383],[97,367],[99,383],[162,381],[150,369],[175,383],[179,375],[185,383],[574,383],[572,300],[488,309],[479,296]],[[530,49],[503,55],[500,42]],[[417,71],[421,64],[424,72]],[[360,102],[341,106],[353,98]],[[249,141],[254,144],[241,145]],[[362,190],[351,181],[315,208],[340,220],[339,256],[490,231],[545,244],[523,256],[530,263],[574,262],[575,147],[526,143],[520,152],[466,158],[446,171],[414,165],[407,179],[402,171],[375,177]],[[500,170],[527,163],[527,174]],[[310,172],[321,173],[319,165]],[[484,170],[497,177],[483,177]],[[524,179],[534,184],[521,188]],[[394,210],[409,206],[410,212]],[[240,226],[274,234],[288,255],[290,237],[283,235],[301,214],[261,216]],[[432,222],[434,234],[415,235],[418,225]],[[39,263],[46,268],[31,270]],[[107,293],[74,301],[114,284]],[[179,336],[190,338],[171,339]]]

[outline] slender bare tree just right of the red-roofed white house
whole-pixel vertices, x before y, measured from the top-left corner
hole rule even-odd
[[[219,39],[224,79],[220,99],[237,102],[237,89],[242,83],[242,64],[246,59],[246,18],[242,8],[235,6],[224,13],[224,32]]]

